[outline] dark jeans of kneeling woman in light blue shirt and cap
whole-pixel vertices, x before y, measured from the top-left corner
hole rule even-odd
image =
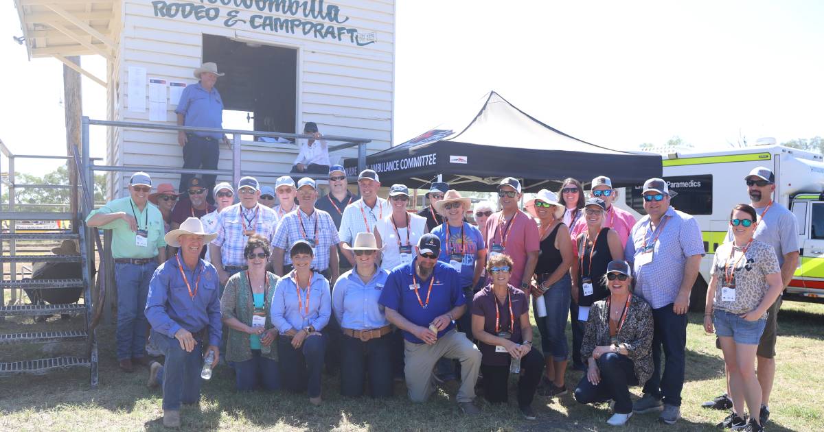
[[[307,390],[309,397],[320,397],[325,351],[326,336],[323,334],[307,337],[297,350],[293,348],[291,338],[278,337],[283,388],[295,393]]]

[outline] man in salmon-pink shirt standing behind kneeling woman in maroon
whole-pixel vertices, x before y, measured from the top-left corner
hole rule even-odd
[[[507,177],[501,180],[498,197],[502,210],[486,220],[488,256],[492,258],[496,253],[506,253],[513,258],[515,265],[509,284],[526,292],[541,252],[538,225],[517,207],[521,199],[521,182],[517,179]]]

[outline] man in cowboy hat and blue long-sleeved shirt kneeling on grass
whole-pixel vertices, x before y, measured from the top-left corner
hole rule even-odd
[[[166,244],[179,248],[174,258],[157,267],[146,301],[152,341],[166,357],[151,367],[149,386],[163,383],[163,425],[180,427],[180,403],[200,400],[199,371],[204,356],[218,365],[221,336],[218,271],[200,259],[200,250],[216,234],[204,233],[196,217],[166,234]],[[208,343],[208,346],[205,344]]]

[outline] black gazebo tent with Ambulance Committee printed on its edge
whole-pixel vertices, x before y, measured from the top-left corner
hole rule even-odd
[[[344,162],[358,175],[357,160]],[[517,109],[491,91],[465,128],[433,129],[399,146],[367,157],[381,183],[428,188],[438,174],[452,188],[492,191],[500,179],[521,179],[525,191],[555,189],[574,177],[584,182],[606,175],[613,186],[635,186],[661,177],[661,156],[611,150],[570,137]]]

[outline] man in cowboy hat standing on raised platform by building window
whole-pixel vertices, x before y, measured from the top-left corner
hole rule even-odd
[[[192,126],[196,128],[223,128],[223,100],[214,88],[218,77],[224,73],[218,72],[218,65],[215,63],[204,63],[201,67],[194,69],[194,77],[199,79],[197,84],[191,84],[183,89],[180,101],[177,103],[177,125]],[[227,138],[220,132],[177,132],[177,142],[183,146],[183,168],[204,170],[217,170],[220,149],[220,142],[226,142]],[[180,189],[185,190],[189,179],[194,174],[180,174]],[[206,190],[214,188],[213,174],[204,174],[204,186]],[[214,204],[214,198],[207,197],[209,204]]]

